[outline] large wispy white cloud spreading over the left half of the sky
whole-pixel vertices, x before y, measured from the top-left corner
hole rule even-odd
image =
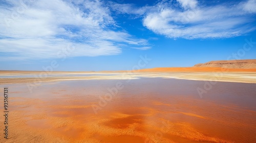
[[[116,23],[108,7],[98,1],[8,1],[0,6],[0,52],[8,60],[56,58],[68,45],[75,56],[116,55],[121,44],[147,45],[126,31],[114,31]]]

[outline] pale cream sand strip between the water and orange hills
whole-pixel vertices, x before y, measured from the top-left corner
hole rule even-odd
[[[167,78],[201,81],[256,83],[256,72],[67,72],[1,71],[0,84],[41,83],[66,80],[131,80],[139,78]],[[62,76],[63,75],[63,76]],[[16,77],[12,77],[16,76]],[[30,76],[30,77],[18,77]]]

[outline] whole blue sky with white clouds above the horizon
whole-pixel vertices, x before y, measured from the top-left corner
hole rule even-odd
[[[2,70],[132,70],[145,55],[140,68],[256,59],[256,0],[4,0],[0,17]]]

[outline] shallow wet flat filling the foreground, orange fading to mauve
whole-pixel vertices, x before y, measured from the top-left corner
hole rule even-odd
[[[157,77],[45,81],[32,92],[2,83],[10,138],[0,142],[256,141],[256,84],[217,82],[200,98],[205,81]]]

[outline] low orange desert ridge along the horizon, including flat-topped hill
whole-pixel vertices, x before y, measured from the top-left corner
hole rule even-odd
[[[86,74],[86,73],[116,73],[127,70],[109,71],[51,71],[48,74]],[[251,60],[222,60],[199,63],[192,67],[155,67],[132,70],[136,72],[256,72],[256,59]],[[36,74],[42,71],[0,70],[0,74]]]

